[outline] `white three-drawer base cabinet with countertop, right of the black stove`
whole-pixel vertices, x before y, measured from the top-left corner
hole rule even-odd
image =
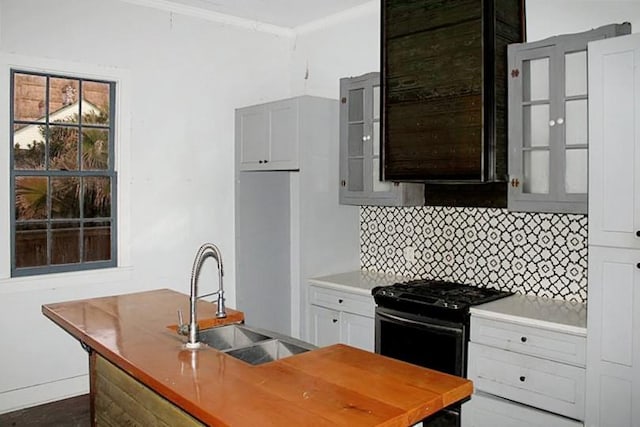
[[[471,309],[464,427],[582,426],[586,308],[514,295]]]

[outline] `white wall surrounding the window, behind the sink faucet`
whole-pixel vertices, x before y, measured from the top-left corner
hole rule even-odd
[[[0,54],[124,70],[131,112],[130,179],[120,182],[130,199],[120,206],[130,215],[129,268],[0,277],[0,412],[88,389],[86,353],[41,314],[43,303],[165,287],[188,293],[193,256],[211,241],[235,305],[234,108],[289,96],[290,52],[286,35],[116,0],[0,1]],[[10,145],[2,141],[4,174]],[[6,190],[0,196],[7,206]],[[3,254],[7,214],[0,211]],[[8,259],[0,263],[6,272]],[[213,287],[213,265],[201,284]]]

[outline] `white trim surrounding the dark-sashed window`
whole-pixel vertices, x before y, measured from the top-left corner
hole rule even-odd
[[[40,274],[11,277],[11,183],[9,180],[10,136],[10,71],[33,71],[69,75],[86,79],[107,80],[116,83],[115,104],[115,170],[118,175],[116,193],[116,267],[96,270],[79,270],[65,273]],[[103,65],[75,63],[47,58],[36,58],[11,54],[0,54],[0,293],[12,290],[13,286],[26,290],[47,285],[73,286],[85,281],[87,276],[99,275],[101,281],[119,281],[128,277],[131,270],[130,241],[130,136],[131,111],[129,100],[130,73],[128,70]],[[26,289],[25,289],[26,287]],[[16,288],[16,290],[18,289]]]

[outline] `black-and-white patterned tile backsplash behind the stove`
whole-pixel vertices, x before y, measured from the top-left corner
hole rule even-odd
[[[362,206],[360,245],[364,270],[587,300],[586,215]]]

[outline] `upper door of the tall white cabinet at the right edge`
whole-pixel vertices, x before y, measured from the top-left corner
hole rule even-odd
[[[589,43],[589,244],[640,249],[640,35]]]

